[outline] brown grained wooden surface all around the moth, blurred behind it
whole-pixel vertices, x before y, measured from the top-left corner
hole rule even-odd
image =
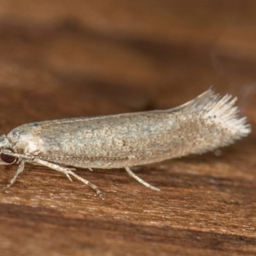
[[[1,255],[256,255],[255,1],[0,1],[0,130],[172,108],[210,86],[252,134],[134,170],[26,166],[0,193]],[[4,186],[17,166],[0,167]]]

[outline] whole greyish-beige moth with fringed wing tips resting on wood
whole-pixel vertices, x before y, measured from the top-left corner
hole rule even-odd
[[[236,98],[212,89],[177,108],[118,115],[65,118],[16,127],[0,136],[0,164],[47,166],[100,190],[74,173],[74,168],[124,168],[144,186],[132,166],[155,163],[188,154],[202,154],[247,136],[250,125],[238,116]]]

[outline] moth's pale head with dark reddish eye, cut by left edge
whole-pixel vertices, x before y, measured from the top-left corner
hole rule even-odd
[[[0,136],[0,165],[13,164],[17,161],[12,142],[5,135]]]

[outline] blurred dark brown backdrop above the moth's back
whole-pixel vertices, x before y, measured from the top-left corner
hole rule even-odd
[[[210,86],[237,95],[244,113],[256,92],[255,13],[253,0],[2,0],[2,128],[10,116],[171,108]]]

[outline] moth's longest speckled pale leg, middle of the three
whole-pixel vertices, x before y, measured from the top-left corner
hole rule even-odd
[[[72,170],[76,170],[74,168],[67,168],[67,167],[63,167],[63,166],[60,166],[58,164],[53,164],[53,163],[49,163],[47,161],[44,161],[42,159],[38,159],[38,158],[35,158],[33,159],[32,161],[29,161],[29,163],[32,163],[32,164],[40,164],[40,165],[43,165],[43,166],[47,166],[49,168],[51,168],[52,170],[55,170],[57,172],[61,172],[61,173],[64,173],[69,180],[72,181],[72,179],[70,178],[69,175],[75,177],[77,180],[80,180],[81,182],[83,182],[84,184],[86,184],[87,186],[90,186],[92,189],[94,189],[97,193],[97,195],[99,195],[99,197],[104,200],[104,197],[102,196],[102,193],[100,192],[100,190],[97,188],[97,186],[95,186],[94,184],[92,184],[90,181],[86,180],[86,179],[83,179],[82,177],[80,177],[79,175],[77,175],[76,173],[72,172]]]

